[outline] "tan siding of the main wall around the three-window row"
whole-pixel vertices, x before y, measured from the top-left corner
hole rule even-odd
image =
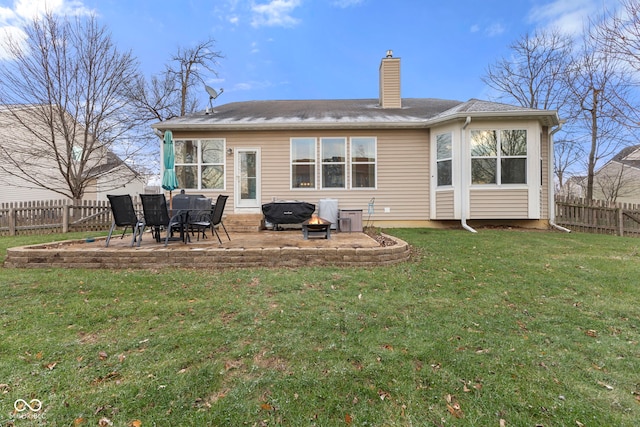
[[[291,189],[290,139],[296,137],[368,136],[377,139],[377,188],[331,189],[320,187],[320,165],[316,181],[318,189]],[[429,132],[428,130],[345,130],[345,131],[224,131],[174,132],[174,139],[224,138],[227,148],[261,148],[261,203],[275,200],[302,200],[318,204],[320,199],[338,199],[339,208],[362,209],[363,220],[428,220],[429,219]],[[318,141],[319,148],[319,141]],[[227,156],[226,189],[222,192],[202,191],[207,196],[218,193],[233,201],[233,155]],[[347,183],[350,184],[347,164]],[[408,178],[409,177],[409,178]],[[375,198],[375,213],[368,218],[369,201]],[[384,208],[389,208],[385,213]]]

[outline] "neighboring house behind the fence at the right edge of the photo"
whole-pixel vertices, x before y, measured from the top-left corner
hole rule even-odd
[[[583,184],[586,188],[586,178]],[[640,145],[624,148],[595,172],[593,198],[640,203]]]

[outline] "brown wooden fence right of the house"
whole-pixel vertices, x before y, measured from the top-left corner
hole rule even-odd
[[[640,205],[556,197],[556,224],[572,231],[640,237]]]

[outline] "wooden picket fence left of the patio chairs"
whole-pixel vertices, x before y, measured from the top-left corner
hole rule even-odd
[[[5,236],[101,231],[108,230],[111,221],[108,201],[47,200],[0,204],[0,235]]]

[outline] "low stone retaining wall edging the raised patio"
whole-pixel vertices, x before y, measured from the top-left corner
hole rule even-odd
[[[409,245],[399,239],[393,246],[372,248],[83,248],[82,241],[10,248],[7,268],[156,269],[232,267],[373,267],[409,259]],[[67,243],[65,245],[65,243]]]

